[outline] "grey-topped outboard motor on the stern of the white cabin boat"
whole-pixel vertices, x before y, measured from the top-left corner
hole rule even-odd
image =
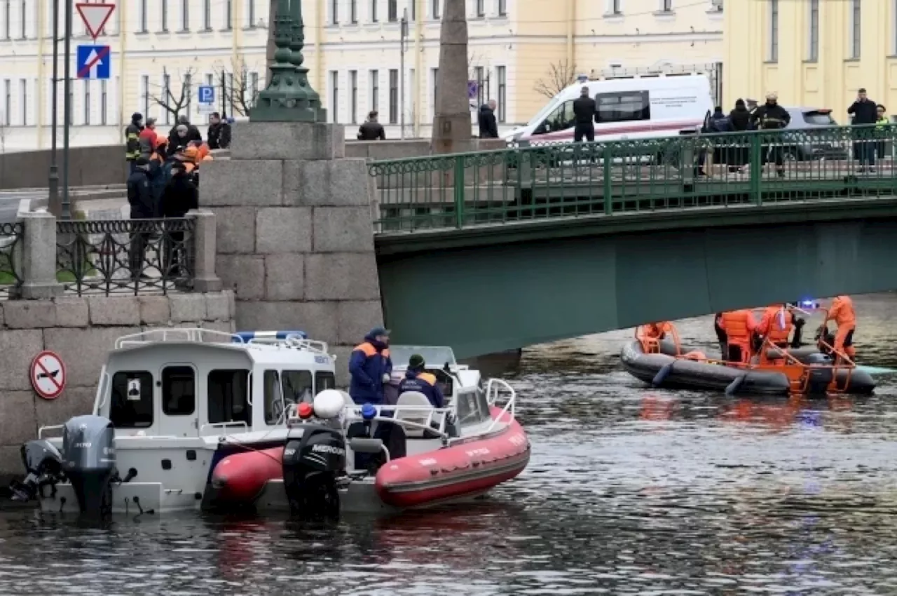
[[[102,416],[75,416],[62,435],[63,471],[72,483],[81,513],[112,510],[112,480],[117,476],[115,427]]]

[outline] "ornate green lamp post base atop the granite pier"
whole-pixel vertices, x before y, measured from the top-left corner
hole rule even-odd
[[[258,94],[252,122],[326,122],[327,110],[309,84],[305,58],[305,24],[301,0],[278,0],[274,18],[274,64],[271,80]]]

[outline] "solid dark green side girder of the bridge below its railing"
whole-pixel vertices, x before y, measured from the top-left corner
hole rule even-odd
[[[490,242],[447,232],[398,250],[378,238],[384,311],[394,342],[448,345],[470,357],[652,320],[897,288],[897,210],[843,210],[832,222],[806,221],[818,219],[807,209],[790,223],[754,215],[749,225],[659,232],[575,224],[579,234],[502,240],[499,232]],[[666,227],[674,225],[689,223]]]

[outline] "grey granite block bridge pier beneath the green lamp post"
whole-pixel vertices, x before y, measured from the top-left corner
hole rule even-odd
[[[216,215],[215,270],[237,298],[237,328],[303,329],[347,357],[383,322],[365,159],[323,123],[235,127],[231,160],[203,165],[203,206]]]

